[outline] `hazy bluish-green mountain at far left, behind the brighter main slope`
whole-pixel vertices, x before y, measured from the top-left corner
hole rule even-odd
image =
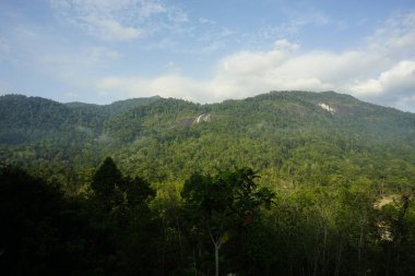
[[[31,143],[56,139],[57,135],[73,130],[90,134],[99,133],[106,118],[150,104],[157,98],[134,98],[98,106],[83,103],[60,104],[23,95],[1,96],[0,142],[9,145]]]

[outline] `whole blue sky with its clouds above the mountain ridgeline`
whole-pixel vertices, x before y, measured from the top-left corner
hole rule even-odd
[[[414,0],[0,0],[0,94],[335,91],[415,112]]]

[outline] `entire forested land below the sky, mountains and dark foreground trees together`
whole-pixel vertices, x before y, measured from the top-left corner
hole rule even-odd
[[[348,95],[5,95],[0,161],[4,275],[415,274],[415,115]]]

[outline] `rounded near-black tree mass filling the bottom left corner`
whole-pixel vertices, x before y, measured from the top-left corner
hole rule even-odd
[[[100,275],[93,214],[44,179],[0,165],[1,275]]]

